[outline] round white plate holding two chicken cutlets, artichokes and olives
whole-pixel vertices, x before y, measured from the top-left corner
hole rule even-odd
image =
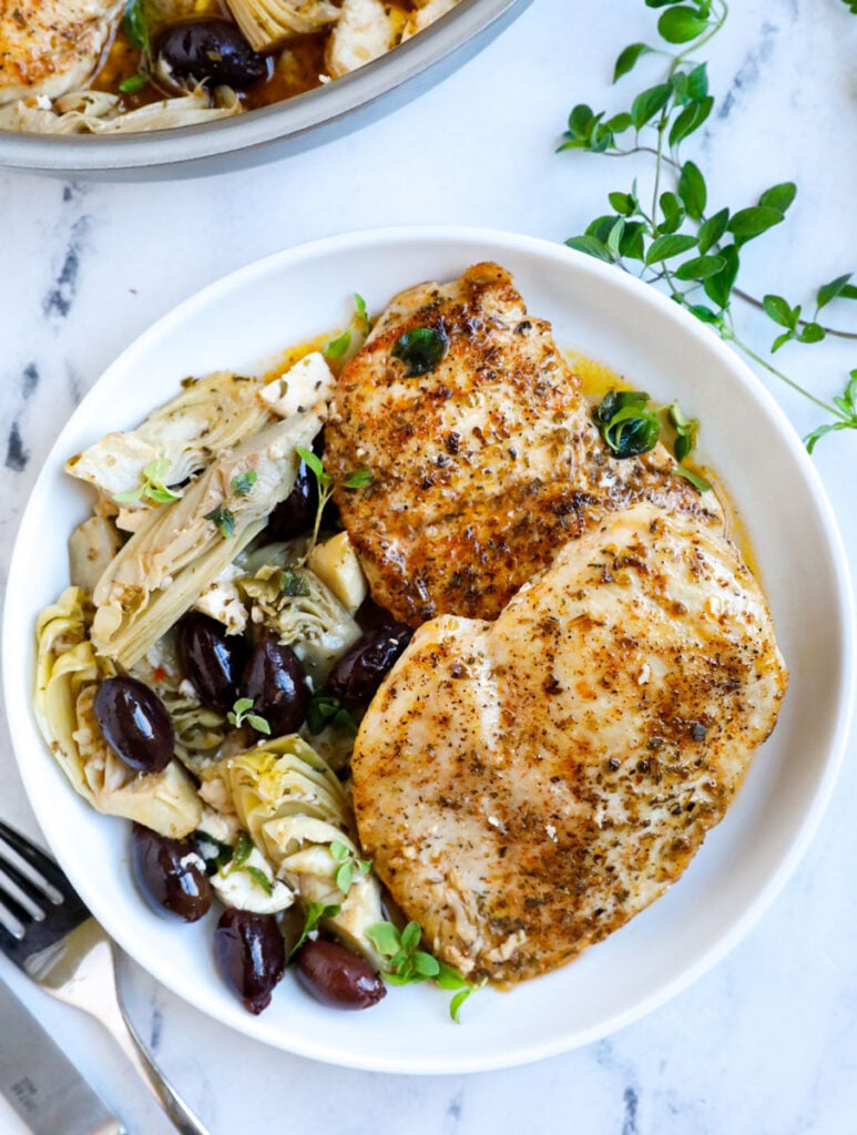
[[[212,962],[211,918],[159,919],[128,877],[127,825],[96,815],[66,783],[31,712],[33,629],[67,585],[66,539],[86,494],[67,456],[128,427],[180,378],[247,371],[291,343],[343,326],[351,293],[379,310],[397,289],[469,264],[511,269],[562,346],[597,359],[659,402],[701,419],[701,454],[721,472],[750,535],[791,687],[724,822],[683,878],[579,961],[512,993],[484,991],[447,1017],[434,986],[392,989],[368,1012],[318,1006],[287,975],[260,1017]],[[165,985],[242,1032],[359,1068],[461,1073],[533,1060],[628,1024],[734,945],[795,868],[833,787],[848,729],[854,629],[845,553],[821,482],[770,395],[711,330],[638,281],[558,245],[505,233],[408,228],[279,253],[205,288],[133,344],[62,430],[33,490],[9,574],[3,631],[15,750],[39,821],[92,910]]]

